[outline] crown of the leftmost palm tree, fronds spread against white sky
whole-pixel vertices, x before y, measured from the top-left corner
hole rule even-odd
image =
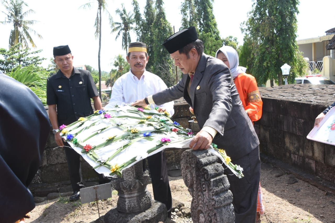
[[[0,21],[0,23],[13,25],[13,29],[10,31],[9,35],[9,48],[18,43],[22,43],[23,48],[27,48],[28,43],[30,43],[32,47],[36,48],[30,33],[34,33],[40,39],[42,39],[42,36],[28,25],[34,25],[37,21],[24,20],[24,17],[30,13],[35,13],[35,11],[29,9],[23,12],[23,6],[28,6],[28,4],[22,0],[10,0],[9,2],[4,0],[2,1],[2,4],[6,8],[7,13],[3,11],[3,13],[6,15],[6,18],[5,21]]]

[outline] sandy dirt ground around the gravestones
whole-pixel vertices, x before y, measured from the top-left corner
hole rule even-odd
[[[261,165],[261,185],[265,206],[265,213],[261,216],[262,223],[335,223],[334,195],[299,179],[293,184],[287,184],[287,180],[292,175],[284,174],[275,177],[271,174],[273,169],[270,164]],[[170,187],[172,197],[189,208],[192,197],[182,177],[170,177]],[[147,188],[152,195],[151,184],[148,184]],[[116,206],[118,196],[114,192],[111,199],[98,202],[100,216]],[[38,203],[29,214],[30,219],[26,219],[25,222],[89,223],[98,218],[96,203],[82,205],[79,201],[69,202],[68,197]],[[176,222],[183,221],[180,219]]]

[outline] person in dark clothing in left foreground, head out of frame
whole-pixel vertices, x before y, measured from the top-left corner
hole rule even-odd
[[[51,125],[41,100],[0,71],[0,222],[35,208],[27,188],[42,163]]]

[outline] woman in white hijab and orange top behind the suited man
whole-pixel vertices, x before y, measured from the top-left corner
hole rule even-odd
[[[263,102],[259,95],[257,82],[254,76],[246,74],[246,68],[239,66],[239,55],[236,50],[229,46],[223,46],[216,51],[215,57],[222,60],[230,69],[231,77],[234,79],[242,104],[249,118],[254,123],[262,116]],[[262,204],[261,184],[258,189],[257,220],[264,213]]]

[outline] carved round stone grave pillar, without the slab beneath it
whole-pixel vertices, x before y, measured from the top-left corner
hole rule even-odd
[[[148,171],[143,172],[142,162],[124,169],[122,178],[112,180],[118,191],[117,210],[121,213],[144,212],[151,207],[151,195],[146,186],[149,181]]]

